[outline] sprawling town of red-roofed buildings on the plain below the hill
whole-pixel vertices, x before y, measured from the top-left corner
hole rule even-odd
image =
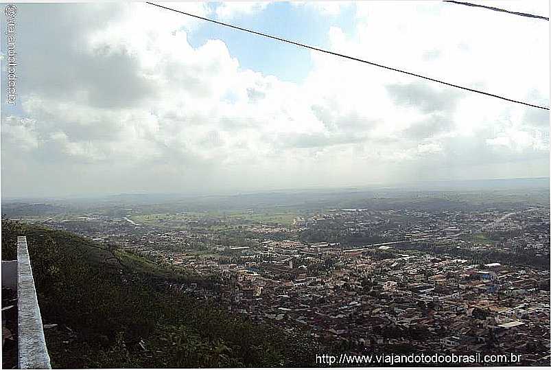
[[[169,288],[350,353],[484,351],[549,362],[548,205],[386,208],[128,207],[19,220],[215,277],[215,288]]]

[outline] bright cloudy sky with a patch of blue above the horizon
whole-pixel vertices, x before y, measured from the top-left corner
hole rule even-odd
[[[548,21],[442,1],[162,4],[549,106]],[[16,6],[3,197],[549,176],[548,111],[145,3]]]

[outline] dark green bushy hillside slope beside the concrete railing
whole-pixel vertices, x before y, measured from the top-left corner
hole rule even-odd
[[[2,258],[26,235],[45,336],[56,368],[301,367],[312,338],[253,324],[169,283],[215,279],[154,266],[64,231],[2,222]]]

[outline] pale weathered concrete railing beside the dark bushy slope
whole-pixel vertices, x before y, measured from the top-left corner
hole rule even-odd
[[[25,236],[17,237],[17,316],[19,369],[51,369]]]

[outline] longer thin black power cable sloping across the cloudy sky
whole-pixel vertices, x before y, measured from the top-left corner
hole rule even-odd
[[[445,84],[447,86],[452,86],[452,87],[456,87],[457,89],[463,89],[463,90],[467,90],[467,91],[471,91],[472,93],[479,93],[479,94],[482,94],[482,95],[486,95],[486,96],[491,96],[491,97],[497,97],[497,99],[501,99],[501,100],[506,100],[507,102],[513,102],[513,103],[517,103],[517,104],[523,104],[523,105],[526,105],[526,106],[532,106],[533,108],[540,108],[540,109],[545,109],[546,111],[549,111],[549,108],[546,107],[546,106],[539,106],[539,105],[536,105],[536,104],[530,104],[530,103],[527,103],[527,102],[522,102],[520,100],[513,100],[513,99],[509,99],[508,97],[504,97],[504,96],[501,96],[501,95],[496,95],[496,94],[493,94],[493,93],[486,93],[485,91],[481,91],[481,90],[476,90],[476,89],[471,89],[469,87],[465,87],[465,86],[460,86],[460,85],[456,85],[456,84],[451,84],[449,82],[445,82],[445,81],[442,81],[442,80],[436,80],[436,78],[430,78],[430,77],[427,77],[427,76],[422,76],[422,75],[419,75],[417,73],[412,73],[412,72],[408,72],[408,71],[404,71],[403,69],[397,69],[397,68],[394,68],[394,67],[388,67],[386,65],[379,65],[375,62],[369,62],[368,60],[364,60],[364,59],[360,59],[360,58],[355,58],[353,56],[347,56],[347,55],[344,55],[344,54],[339,54],[339,53],[336,53],[334,51],[329,51],[329,50],[325,50],[325,49],[320,49],[318,47],[314,47],[314,46],[311,46],[311,45],[306,45],[306,44],[302,44],[302,43],[297,43],[296,41],[291,41],[291,40],[287,40],[285,38],[281,38],[281,37],[278,37],[278,36],[272,36],[270,34],[263,34],[262,32],[257,32],[257,31],[253,31],[253,30],[248,30],[246,28],[243,28],[243,27],[239,27],[237,25],[231,25],[229,23],[224,23],[224,22],[220,22],[220,21],[215,21],[214,19],[209,19],[209,18],[204,18],[203,16],[198,16],[196,14],[191,14],[191,13],[188,13],[188,12],[183,12],[182,10],[176,10],[176,9],[172,9],[172,8],[168,8],[164,5],[159,5],[159,4],[156,4],[156,3],[150,3],[149,1],[145,1],[146,3],[150,4],[150,5],[154,5],[156,7],[159,7],[159,8],[163,8],[165,10],[171,10],[172,12],[177,12],[177,13],[180,13],[180,14],[185,14],[187,16],[192,16],[194,18],[197,18],[197,19],[201,19],[202,21],[207,21],[207,22],[211,22],[211,23],[215,23],[217,25],[223,25],[224,27],[230,27],[230,28],[233,28],[234,30],[239,30],[239,31],[244,31],[244,32],[248,32],[250,34],[255,34],[255,35],[258,35],[258,36],[263,36],[263,37],[266,37],[266,38],[272,38],[273,40],[277,40],[277,41],[282,41],[283,43],[289,43],[289,44],[292,44],[292,45],[296,45],[296,46],[299,46],[299,47],[305,47],[306,49],[312,49],[312,50],[316,50],[316,51],[320,51],[322,53],[325,53],[325,54],[331,54],[333,56],[340,56],[341,58],[346,58],[346,59],[349,59],[349,60],[355,60],[357,62],[362,62],[362,63],[366,63],[368,65],[373,65],[375,67],[379,67],[379,68],[384,68],[384,69],[388,69],[390,71],[395,71],[395,72],[399,72],[399,73],[404,73],[406,75],[409,75],[409,76],[414,76],[414,77],[418,77],[418,78],[423,78],[424,80],[429,80],[429,81],[432,81],[432,82],[438,82],[440,84]]]

